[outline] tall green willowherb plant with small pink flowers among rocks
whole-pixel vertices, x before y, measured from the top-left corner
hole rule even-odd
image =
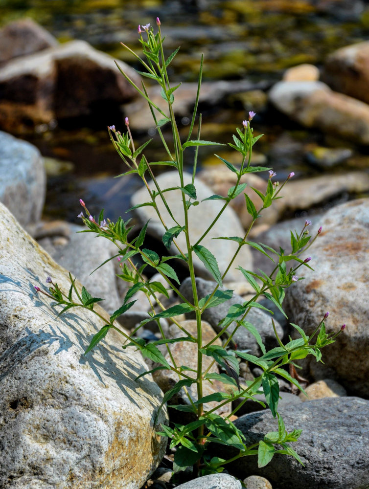
[[[216,145],[218,143],[200,139],[201,114],[198,117],[197,135],[195,138],[192,138],[195,121],[197,118],[197,107],[202,81],[203,57],[201,58],[200,63],[198,90],[188,135],[185,140],[180,137],[174,116],[173,103],[175,91],[181,84],[172,87],[167,72],[167,67],[177,54],[179,48],[165,59],[163,52],[164,38],[161,36],[161,22],[159,18],[157,18],[157,25],[158,32],[156,34],[154,33],[153,28],[150,27],[150,24],[138,26],[139,42],[142,46],[142,52],[145,60],[141,59],[127,46],[125,47],[133,54],[136,60],[142,64],[144,70],[138,71],[138,73],[143,77],[157,82],[160,85],[161,96],[166,103],[168,111],[165,112],[150,99],[144,83],[142,83],[142,87],[139,88],[128,77],[128,75],[124,73],[124,71],[120,71],[126,80],[138,91],[138,93],[144,99],[146,99],[150,107],[156,129],[168,155],[168,159],[166,161],[159,162],[148,161],[144,155],[144,149],[150,143],[151,139],[136,149],[130,131],[128,117],[125,119],[126,130],[124,132],[121,133],[117,131],[115,126],[109,127],[108,131],[116,151],[129,167],[129,171],[123,175],[120,175],[119,177],[124,177],[124,175],[132,173],[137,174],[140,178],[142,178],[142,181],[147,188],[149,200],[145,203],[137,205],[136,207],[149,205],[155,209],[163,226],[163,244],[167,250],[174,245],[178,251],[178,254],[175,256],[159,256],[155,251],[143,248],[148,222],[146,222],[146,224],[142,227],[137,237],[131,239],[130,231],[132,230],[133,226],[130,225],[130,220],[123,221],[123,219],[119,218],[116,222],[111,222],[109,219],[104,219],[103,211],[101,211],[98,218],[95,218],[90,214],[85,202],[80,200],[80,204],[82,205],[84,212],[81,212],[79,217],[82,218],[84,224],[88,228],[85,232],[93,232],[97,236],[102,236],[110,240],[117,246],[117,253],[113,258],[117,258],[119,261],[121,273],[119,273],[118,277],[130,284],[129,289],[126,292],[123,305],[110,316],[109,322],[92,337],[91,343],[86,349],[85,354],[90,352],[98,344],[98,342],[105,337],[110,329],[115,329],[124,337],[125,341],[123,344],[123,349],[127,348],[128,346],[134,346],[140,350],[144,357],[150,358],[157,364],[153,370],[141,374],[137,379],[159,369],[169,370],[178,376],[178,381],[175,386],[164,394],[161,407],[165,402],[169,401],[175,394],[183,389],[185,395],[188,397],[188,404],[172,405],[171,407],[179,411],[191,413],[192,417],[195,417],[195,421],[187,424],[171,424],[169,426],[161,425],[161,427],[158,427],[160,430],[158,432],[159,434],[162,436],[167,436],[171,439],[170,446],[177,447],[174,456],[175,471],[184,470],[188,466],[194,466],[195,472],[197,473],[200,472],[205,474],[209,472],[220,472],[228,463],[246,455],[257,455],[259,467],[266,465],[272,459],[275,453],[292,455],[298,461],[300,461],[298,454],[290,446],[290,443],[299,438],[301,431],[299,429],[294,429],[292,432],[288,433],[285,429],[283,420],[277,412],[279,399],[277,375],[287,379],[294,386],[304,392],[298,382],[294,361],[304,358],[307,355],[314,355],[317,361],[320,361],[322,357],[321,349],[324,346],[333,343],[334,338],[340,333],[340,331],[336,334],[326,334],[324,320],[327,318],[328,313],[325,313],[322,321],[317,325],[314,333],[310,336],[307,336],[298,325],[292,324],[292,327],[295,328],[298,333],[300,333],[300,338],[294,340],[291,340],[290,338],[290,341],[287,344],[283,344],[277,335],[276,327],[272,319],[273,328],[279,346],[267,352],[260,334],[254,325],[247,320],[247,316],[249,311],[254,307],[269,311],[261,306],[259,302],[257,302],[257,300],[261,297],[266,297],[269,299],[269,301],[271,301],[285,315],[282,309],[285,289],[290,287],[297,280],[301,280],[303,278],[297,276],[297,271],[300,267],[310,268],[308,262],[311,260],[311,258],[300,257],[301,255],[306,256],[306,250],[317,239],[322,231],[322,228],[318,229],[313,239],[311,239],[308,232],[308,226],[311,225],[311,222],[308,220],[305,222],[300,233],[291,231],[291,251],[289,253],[286,253],[286,251],[282,248],[277,251],[270,246],[254,243],[248,239],[250,230],[260,216],[260,213],[272,205],[274,200],[280,198],[279,193],[281,189],[286,182],[294,176],[294,173],[290,173],[281,184],[278,184],[278,182],[272,181],[272,179],[276,177],[276,173],[272,169],[251,165],[253,146],[259,137],[261,137],[260,135],[254,136],[252,120],[255,113],[251,111],[249,112],[248,119],[242,121],[242,125],[240,124],[241,128],[236,128],[236,134],[233,135],[233,142],[229,143],[229,146],[231,146],[231,148],[233,148],[239,154],[239,167],[234,166],[223,157],[216,155],[219,160],[236,175],[236,184],[229,189],[226,197],[221,195],[211,195],[205,199],[223,200],[224,205],[214,221],[204,231],[202,237],[197,240],[196,243],[191,241],[191,235],[188,228],[188,215],[192,206],[201,205],[201,202],[197,200],[196,188],[194,185],[199,147]],[[157,119],[155,111],[161,114],[161,119]],[[173,141],[171,144],[174,148],[173,152],[169,149],[169,145],[167,144],[161,131],[161,127],[165,124],[170,124],[171,126],[173,136]],[[195,147],[196,150],[192,168],[192,181],[191,183],[185,185],[184,153],[187,148],[193,147]],[[180,185],[175,188],[161,189],[152,170],[155,165],[169,165],[173,167],[173,169],[178,173]],[[213,254],[201,243],[209,233],[210,229],[212,229],[216,224],[217,220],[229,205],[231,200],[244,191],[246,183],[240,183],[241,177],[248,173],[259,172],[269,172],[265,194],[253,188],[254,192],[262,200],[263,205],[261,209],[257,211],[253,201],[246,193],[244,194],[245,204],[247,211],[252,218],[252,222],[245,231],[244,236],[219,237],[219,239],[231,240],[237,243],[237,249],[233,258],[231,259],[224,273],[221,273],[216,257],[214,257]],[[149,175],[152,179],[155,190],[150,188],[146,175]],[[179,222],[175,219],[165,198],[167,192],[178,192],[178,190],[181,191],[181,199],[184,210],[183,222]],[[158,199],[162,201],[169,216],[175,222],[174,226],[168,227],[167,223],[165,222],[164,217],[161,215],[157,205]],[[184,233],[185,235],[185,249],[182,249],[177,243],[177,237],[180,235],[180,233]],[[222,284],[228,270],[231,268],[237,254],[243,246],[252,246],[260,253],[268,256],[274,262],[275,267],[272,273],[269,275],[263,273],[262,271],[255,273],[254,271],[239,267],[239,270],[253,288],[254,296],[242,304],[232,305],[229,308],[227,315],[219,324],[219,333],[217,333],[213,339],[208,341],[208,343],[204,343],[201,324],[202,314],[206,309],[222,304],[231,298],[233,291],[222,289]],[[195,271],[193,265],[194,255],[196,255],[204,263],[205,267],[214,278],[213,291],[206,297],[202,298],[198,297],[196,289]],[[139,256],[143,261],[142,266],[138,267],[135,256]],[[176,271],[168,263],[173,259],[182,259],[188,267],[192,285],[193,301],[187,300],[178,289],[180,283]],[[287,267],[287,264],[290,265],[289,268]],[[147,266],[153,267],[156,272],[161,274],[166,281],[166,287],[164,287],[161,282],[152,281],[144,276],[144,270]],[[64,306],[59,314],[62,314],[73,307],[83,307],[95,312],[95,314],[103,318],[106,322],[106,318],[94,310],[94,304],[102,299],[92,297],[92,295],[85,288],[82,288],[82,291],[79,292],[75,286],[75,279],[73,279],[70,274],[69,277],[71,286],[68,293],[59,289],[58,285],[54,284],[50,277],[47,277],[46,279],[46,282],[50,284],[49,293],[42,291],[39,287],[35,287],[35,289],[37,292],[42,292],[48,297],[56,300],[56,303],[54,303],[52,307]],[[161,303],[160,295],[163,294],[164,296],[169,297],[168,290],[170,289],[177,294],[182,303],[166,309]],[[120,329],[119,324],[115,322],[115,319],[133,306],[135,301],[130,301],[130,299],[132,299],[135,293],[139,290],[143,291],[147,296],[151,308],[150,317],[142,321],[130,335],[127,335]],[[154,305],[157,305],[161,312],[157,313],[154,309]],[[196,334],[191,334],[186,331],[185,327],[176,319],[176,316],[187,312],[192,312],[196,316]],[[272,311],[269,312],[272,313]],[[160,323],[161,318],[170,318],[171,321],[182,331],[184,336],[176,339],[165,337]],[[137,332],[139,328],[144,326],[148,321],[152,320],[157,322],[158,329],[162,337],[158,341],[150,341],[146,343],[142,338],[138,337]],[[228,328],[233,321],[236,322],[236,328],[233,329],[232,333],[230,333],[228,332]],[[344,329],[344,327],[345,325],[342,326],[341,330]],[[262,356],[256,357],[245,351],[238,351],[228,348],[232,341],[232,337],[238,328],[246,328],[254,335],[262,351]],[[215,340],[218,338],[222,339],[222,346],[215,344]],[[171,354],[170,345],[171,343],[178,341],[189,341],[197,345],[196,371],[190,369],[186,365],[176,364]],[[160,349],[158,348],[159,345],[165,345],[170,361],[168,361],[161,353]],[[217,363],[223,373],[210,373],[210,367],[204,369],[204,356],[209,356],[212,359],[211,365]],[[263,371],[262,375],[255,378],[254,381],[247,381],[246,388],[241,388],[239,384],[239,359],[247,360],[248,362],[260,367]],[[286,366],[290,367],[291,373],[285,368]],[[204,397],[204,383],[211,382],[215,379],[227,385],[227,392],[216,392]],[[196,385],[196,398],[191,397],[188,391],[188,387],[193,384]],[[260,389],[262,389],[264,392],[266,402],[273,416],[277,416],[278,418],[278,431],[268,433],[264,436],[262,441],[255,443],[254,445],[247,446],[245,444],[244,435],[230,421],[230,418],[237,412],[237,410],[247,399],[253,398],[253,396],[259,392]],[[222,417],[215,413],[219,407],[238,399],[243,400],[231,411],[230,415]],[[216,401],[219,404],[216,408],[206,409],[206,404],[210,401]],[[229,459],[224,459],[216,455],[208,455],[209,451],[207,449],[211,444],[232,446],[234,447],[235,455]],[[215,450],[212,449],[211,453],[214,454],[214,452]]]

